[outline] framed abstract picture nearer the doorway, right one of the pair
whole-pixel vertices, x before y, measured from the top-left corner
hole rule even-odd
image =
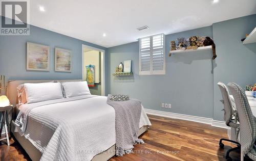
[[[55,71],[72,72],[72,51],[55,47]]]

